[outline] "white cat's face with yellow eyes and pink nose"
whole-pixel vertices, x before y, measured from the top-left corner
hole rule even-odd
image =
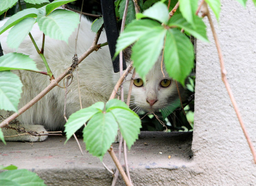
[[[164,74],[164,75],[163,75]],[[127,80],[131,79],[129,75]],[[130,81],[124,83],[124,89],[128,92]],[[161,71],[159,61],[146,75],[145,81],[139,74],[135,74],[132,85],[132,97],[130,107],[134,112],[143,110],[145,112],[158,112],[164,109],[179,98],[176,82],[172,80],[168,73]],[[178,84],[180,94],[184,94],[184,88]]]

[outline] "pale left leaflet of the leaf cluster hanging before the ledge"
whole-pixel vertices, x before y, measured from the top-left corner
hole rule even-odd
[[[77,130],[79,130],[84,125],[85,122],[91,119],[98,112],[101,112],[103,109],[104,109],[104,103],[97,102],[92,106],[83,108],[73,113],[71,116],[69,116],[68,122],[65,124],[65,131],[64,131],[66,132],[66,137],[67,137],[66,142],[73,135],[73,133],[77,132]]]

